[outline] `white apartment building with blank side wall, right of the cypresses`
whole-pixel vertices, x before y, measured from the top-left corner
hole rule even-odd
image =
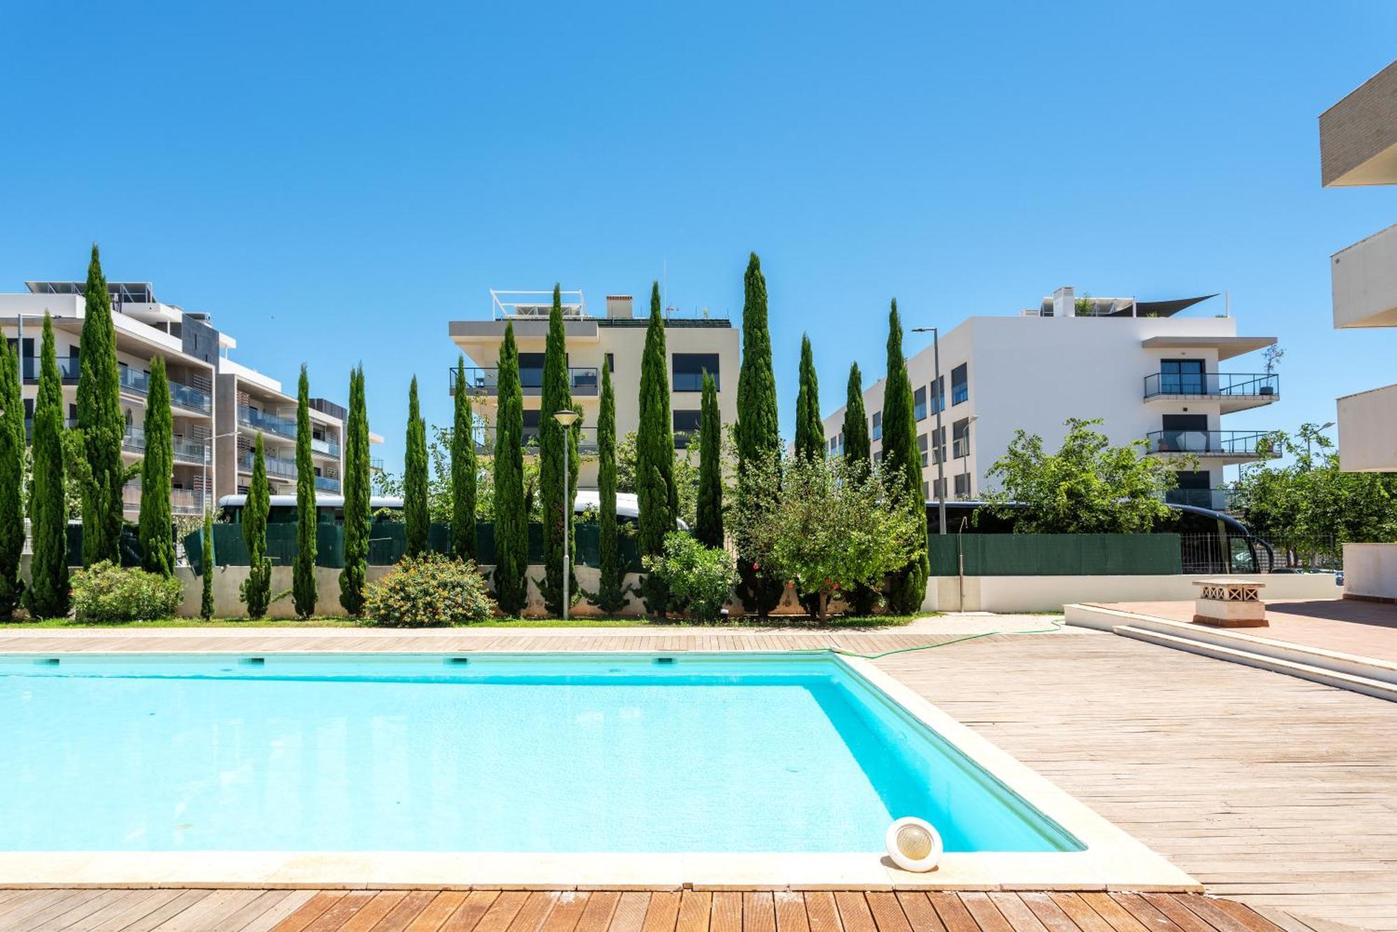
[[[1238,336],[1225,315],[1180,315],[1208,299],[1140,301],[1077,297],[1058,289],[1017,315],[971,317],[940,335],[940,382],[928,346],[907,361],[912,381],[923,494],[937,498],[944,460],[947,499],[974,499],[997,483],[986,473],[1023,428],[1055,449],[1067,417],[1104,419],[1113,444],[1148,441],[1148,455],[1190,455],[1169,501],[1222,508],[1222,467],[1260,459],[1264,431],[1227,430],[1234,412],[1280,399],[1280,377],[1224,363],[1275,343]],[[904,324],[916,321],[904,317]],[[873,456],[882,456],[886,379],[863,389]],[[942,409],[942,430],[936,412]],[[844,409],[824,419],[830,453],[842,452]]]

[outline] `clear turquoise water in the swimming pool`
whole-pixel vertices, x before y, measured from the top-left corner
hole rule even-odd
[[[828,654],[0,659],[0,850],[1076,840]]]

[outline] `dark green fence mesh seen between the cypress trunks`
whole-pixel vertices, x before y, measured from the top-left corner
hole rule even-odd
[[[601,529],[595,523],[578,525],[576,527],[577,554],[574,561],[580,566],[601,565]],[[70,541],[70,548],[71,548]],[[138,544],[137,544],[138,547]],[[407,550],[407,527],[398,522],[374,523],[369,532],[369,565],[391,566],[402,559]],[[450,525],[432,525],[427,532],[427,550],[436,554],[446,554],[451,550]],[[81,540],[78,541],[81,554]],[[140,551],[137,550],[137,554]],[[495,564],[495,526],[481,522],[475,526],[476,562],[483,565]],[[184,539],[184,554],[196,573],[203,573],[204,529],[200,527]],[[296,559],[296,525],[267,525],[267,555],[274,566],[289,566]],[[528,555],[531,564],[543,562],[543,526],[534,523],[528,529]],[[319,525],[316,529],[316,565],[344,566],[345,537],[339,525]],[[137,557],[137,561],[140,558]],[[242,525],[214,525],[214,562],[219,566],[246,566],[247,546],[243,543]],[[631,572],[640,572],[640,554],[636,550],[636,539],[629,534],[620,537],[620,562]]]

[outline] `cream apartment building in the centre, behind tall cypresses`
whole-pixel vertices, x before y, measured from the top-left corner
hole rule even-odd
[[[490,292],[489,320],[451,321],[451,342],[468,360],[467,384],[475,393],[475,410],[486,427],[479,442],[493,449],[495,399],[499,392],[500,345],[504,326],[514,324],[520,350],[520,382],[524,388],[524,439],[536,437],[539,393],[543,385],[543,349],[552,292]],[[606,311],[592,315],[581,292],[563,293],[563,326],[567,333],[567,366],[573,400],[583,412],[583,466],[578,487],[597,487],[597,417],[601,400],[601,370],[610,370],[616,392],[616,434],[624,437],[640,426],[640,357],[650,318],[636,317],[630,294],[608,294]],[[703,374],[718,386],[718,410],[724,424],[738,416],[739,333],[726,318],[682,317],[666,313],[665,345],[669,353],[669,407],[675,446],[686,448],[687,435],[698,428]],[[451,391],[455,370],[448,374]]]

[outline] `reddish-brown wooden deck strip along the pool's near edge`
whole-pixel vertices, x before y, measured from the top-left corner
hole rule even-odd
[[[1270,932],[1169,893],[0,890],[0,928],[122,932]],[[1288,924],[1292,932],[1315,926]],[[1326,932],[1323,926],[1315,932]]]

